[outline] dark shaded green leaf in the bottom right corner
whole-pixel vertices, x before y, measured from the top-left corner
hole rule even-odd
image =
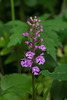
[[[67,81],[55,80],[51,87],[51,98],[53,100],[64,100],[67,98]]]

